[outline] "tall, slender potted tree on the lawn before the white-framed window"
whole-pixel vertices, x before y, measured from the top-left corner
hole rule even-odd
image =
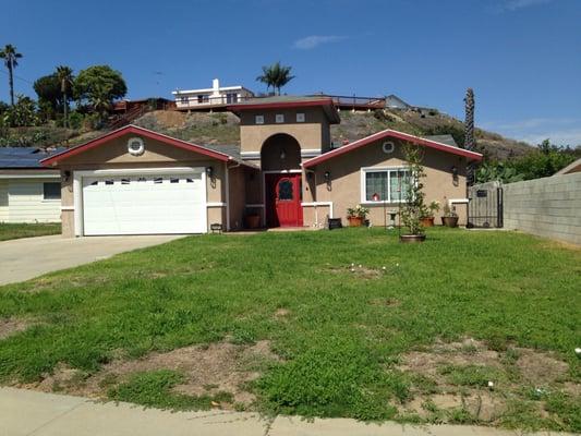
[[[424,204],[424,184],[422,179],[425,177],[424,167],[420,148],[413,144],[407,144],[403,147],[406,160],[408,162],[408,178],[404,179],[400,189],[404,192],[404,203],[400,206],[400,217],[403,227],[407,229],[406,234],[400,234],[400,242],[424,242],[425,233],[422,226],[422,216],[427,209]]]

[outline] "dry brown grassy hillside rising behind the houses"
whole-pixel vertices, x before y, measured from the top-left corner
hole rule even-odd
[[[419,136],[451,134],[457,144],[464,142],[463,123],[447,114],[432,111],[376,110],[371,112],[340,112],[341,123],[331,126],[331,140],[337,143],[355,141],[385,129],[394,129]],[[220,144],[239,145],[239,119],[229,112],[183,113],[178,111],[153,111],[145,113],[133,122],[170,136],[179,137],[199,145]],[[90,126],[76,131],[64,131],[62,128],[44,125],[36,128],[14,129],[10,133],[13,146],[69,146],[82,144],[97,137],[106,130],[94,130]],[[506,159],[521,156],[532,150],[523,142],[506,138],[497,133],[476,129],[476,147],[487,158]],[[5,141],[4,141],[5,142]],[[13,143],[13,144],[12,144]]]

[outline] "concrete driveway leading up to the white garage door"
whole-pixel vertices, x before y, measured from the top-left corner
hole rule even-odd
[[[28,280],[43,274],[88,264],[114,254],[162,244],[182,235],[90,237],[60,234],[0,242],[0,284]]]

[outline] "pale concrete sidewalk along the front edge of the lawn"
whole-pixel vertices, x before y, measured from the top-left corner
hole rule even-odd
[[[508,436],[521,433],[487,427],[396,423],[364,424],[354,420],[315,420],[229,411],[178,412],[126,403],[100,403],[78,397],[0,388],[2,436]],[[548,435],[549,433],[542,433]],[[531,434],[533,435],[533,434]],[[541,435],[538,433],[537,435]]]

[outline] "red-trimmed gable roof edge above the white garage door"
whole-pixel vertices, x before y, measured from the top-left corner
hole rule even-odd
[[[162,142],[165,144],[172,145],[172,146],[178,147],[178,148],[183,148],[183,149],[186,149],[189,152],[198,153],[201,155],[208,156],[208,157],[211,157],[214,159],[218,159],[218,160],[221,160],[221,161],[225,161],[225,162],[231,159],[230,156],[228,156],[228,155],[226,155],[223,153],[215,152],[215,150],[202,147],[201,145],[192,144],[192,143],[189,143],[189,142],[185,142],[185,141],[182,141],[182,140],[177,140],[174,137],[167,136],[167,135],[164,135],[161,133],[157,133],[157,132],[150,131],[148,129],[143,129],[143,128],[140,128],[137,125],[130,124],[130,125],[125,125],[124,128],[121,128],[121,129],[118,129],[116,131],[112,131],[110,133],[107,133],[107,134],[105,134],[102,136],[99,136],[99,137],[97,137],[95,140],[92,140],[88,143],[85,143],[85,144],[82,144],[82,145],[77,145],[75,147],[69,148],[69,149],[66,149],[64,152],[61,152],[61,153],[57,153],[56,155],[52,155],[52,156],[50,156],[50,157],[48,157],[46,159],[40,160],[40,164],[44,167],[48,167],[48,166],[50,166],[52,164],[57,164],[57,162],[59,162],[59,161],[61,161],[63,159],[66,159],[69,157],[78,155],[80,153],[84,153],[84,152],[89,150],[92,148],[98,147],[99,145],[102,145],[102,144],[105,144],[105,143],[107,143],[107,142],[109,142],[111,140],[114,140],[114,138],[118,138],[120,136],[126,135],[128,133],[132,133],[132,134],[144,136],[144,137],[148,137],[150,140],[156,140],[156,141]]]

